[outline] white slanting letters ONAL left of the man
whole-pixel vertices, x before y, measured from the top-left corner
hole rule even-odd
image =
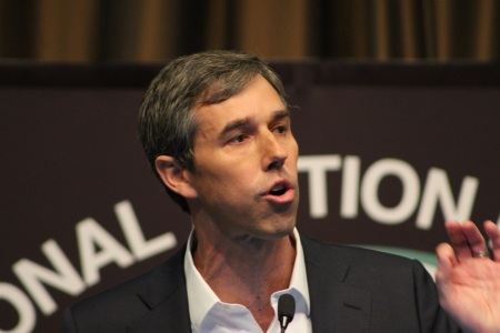
[[[46,285],[77,296],[86,287],[100,281],[99,271],[106,265],[116,263],[120,268],[127,268],[134,261],[146,260],[177,245],[177,239],[172,232],[146,240],[129,201],[117,203],[114,212],[129,249],[91,218],[87,218],[76,225],[83,279],[54,240],[48,240],[41,245],[42,252],[53,266],[52,269],[29,259],[20,259],[12,265],[12,271],[21,281],[27,293],[46,316],[53,314],[58,309]],[[97,249],[100,250],[97,251]],[[0,282],[0,301],[7,301],[12,305],[19,316],[13,329],[7,331],[4,327],[0,327],[0,333],[32,332],[37,321],[36,310],[21,289]]]

